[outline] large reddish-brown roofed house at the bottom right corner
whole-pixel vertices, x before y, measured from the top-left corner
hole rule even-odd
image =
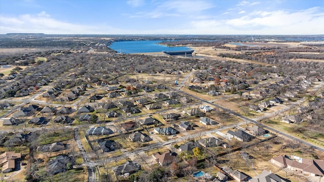
[[[324,176],[324,160],[295,158],[298,160],[291,160],[286,156],[276,156],[270,162],[280,168],[288,168],[310,176]]]

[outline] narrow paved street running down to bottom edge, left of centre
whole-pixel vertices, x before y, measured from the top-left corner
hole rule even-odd
[[[88,181],[94,182],[96,181],[96,171],[95,171],[95,165],[91,162],[88,153],[85,151],[85,149],[82,146],[82,143],[80,141],[78,128],[74,128],[74,140],[77,144],[77,147],[79,148],[79,151],[82,155],[83,161],[87,166],[88,169]]]

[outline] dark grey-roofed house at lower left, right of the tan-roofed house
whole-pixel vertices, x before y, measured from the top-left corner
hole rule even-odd
[[[49,174],[57,174],[60,172],[67,171],[67,164],[70,163],[71,166],[74,164],[73,158],[67,155],[57,156],[56,159],[51,159],[48,164],[47,172]]]

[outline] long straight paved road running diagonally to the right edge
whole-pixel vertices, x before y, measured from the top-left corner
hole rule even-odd
[[[266,125],[264,125],[264,124],[262,124],[262,123],[259,123],[259,122],[255,121],[255,120],[251,119],[251,118],[245,117],[245,116],[243,116],[243,115],[241,115],[241,114],[239,114],[239,113],[236,113],[236,112],[234,112],[234,111],[232,111],[232,110],[229,110],[229,109],[227,109],[227,108],[224,108],[224,107],[222,107],[222,106],[220,106],[220,105],[217,105],[217,104],[211,103],[211,102],[206,101],[206,100],[204,100],[204,99],[201,99],[201,98],[199,98],[199,97],[197,97],[197,96],[194,96],[194,95],[188,94],[188,93],[186,93],[186,92],[184,92],[184,91],[182,91],[182,90],[178,90],[178,89],[175,89],[175,90],[177,90],[178,92],[181,92],[181,93],[183,93],[183,94],[185,94],[185,95],[188,95],[188,96],[194,97],[195,99],[200,100],[200,101],[202,101],[202,102],[208,103],[208,104],[210,104],[210,105],[212,105],[212,106],[218,107],[219,109],[222,109],[223,111],[228,112],[228,113],[230,113],[230,114],[232,114],[232,115],[234,115],[234,116],[237,116],[237,117],[239,117],[239,118],[241,118],[241,119],[243,119],[243,120],[245,120],[245,121],[250,121],[250,122],[252,122],[252,123],[254,123],[254,124],[256,124],[256,125],[259,125],[259,126],[261,126],[261,127],[263,127],[263,128],[266,128],[266,129],[268,129],[268,130],[271,130],[272,132],[275,132],[275,133],[281,134],[281,135],[283,135],[283,136],[286,136],[287,138],[289,138],[289,139],[291,139],[291,140],[293,140],[293,141],[300,142],[300,143],[302,143],[302,144],[304,144],[304,145],[307,145],[307,146],[309,146],[309,147],[312,147],[312,148],[314,148],[314,149],[317,149],[317,150],[319,150],[319,151],[324,152],[324,149],[323,149],[323,148],[320,148],[320,147],[318,147],[318,146],[312,145],[312,144],[310,144],[310,143],[308,143],[308,142],[305,142],[305,141],[303,141],[303,140],[300,140],[300,139],[298,139],[298,138],[295,138],[294,136],[291,136],[291,135],[289,135],[289,134],[286,134],[286,133],[284,133],[284,132],[281,132],[281,131],[279,131],[279,130],[277,130],[277,129],[274,129],[274,128],[272,128],[272,127],[266,126]]]

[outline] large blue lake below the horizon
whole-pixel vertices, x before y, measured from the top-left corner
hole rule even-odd
[[[110,49],[117,53],[157,53],[162,51],[186,51],[191,50],[188,47],[168,47],[166,45],[157,44],[158,40],[135,40],[135,41],[116,41],[110,45]]]

